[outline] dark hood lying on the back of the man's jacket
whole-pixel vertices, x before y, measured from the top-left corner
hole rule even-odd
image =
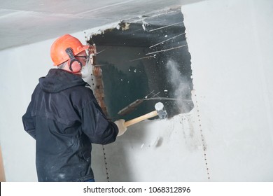
[[[76,74],[62,69],[50,69],[48,75],[39,78],[41,89],[44,92],[60,92],[69,87],[87,85],[85,81]]]

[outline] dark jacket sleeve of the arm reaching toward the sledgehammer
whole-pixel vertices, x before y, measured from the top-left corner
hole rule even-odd
[[[97,101],[92,100],[81,111],[82,130],[93,144],[110,144],[116,141],[118,127],[107,120]]]

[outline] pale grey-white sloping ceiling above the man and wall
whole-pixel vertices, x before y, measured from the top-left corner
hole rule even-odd
[[[198,0],[0,0],[0,50]]]

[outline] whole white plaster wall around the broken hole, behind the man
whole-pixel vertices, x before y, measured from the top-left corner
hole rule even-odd
[[[273,180],[272,8],[269,0],[182,7],[195,109],[133,125],[104,146],[110,181]],[[84,41],[83,32],[74,36]],[[0,52],[6,181],[36,181],[35,142],[21,117],[38,78],[52,68],[52,41]],[[96,180],[106,181],[102,146],[93,157]]]

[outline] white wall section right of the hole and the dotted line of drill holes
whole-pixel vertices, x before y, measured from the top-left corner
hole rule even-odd
[[[273,181],[273,1],[182,7],[213,181]]]

